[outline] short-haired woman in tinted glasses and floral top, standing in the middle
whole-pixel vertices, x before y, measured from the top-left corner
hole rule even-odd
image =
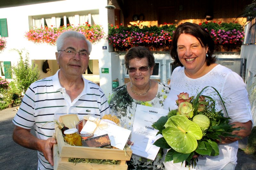
[[[112,113],[120,119],[121,126],[132,130],[136,105],[163,108],[170,87],[150,80],[155,58],[148,48],[132,47],[124,59],[131,81],[113,90],[109,97],[109,105]],[[132,154],[131,160],[127,162],[128,169],[164,169],[161,153],[162,150],[158,152],[154,161]]]

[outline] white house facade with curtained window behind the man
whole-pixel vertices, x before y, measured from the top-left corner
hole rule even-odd
[[[16,65],[19,55],[12,49],[21,50],[24,48],[29,53],[29,59],[34,61],[40,69],[41,78],[51,76],[56,73],[59,66],[56,62],[56,46],[46,43],[36,44],[28,41],[25,33],[33,28],[44,25],[48,27],[82,25],[86,21],[89,24],[101,25],[105,37],[100,42],[93,44],[90,60],[92,63],[93,74],[84,74],[84,77],[100,84],[104,92],[110,93],[112,90],[111,77],[111,53],[108,52],[108,23],[114,22],[114,11],[105,8],[107,0],[64,0],[47,3],[32,3],[30,5],[12,5],[11,7],[0,8],[0,18],[6,19],[8,36],[6,48],[0,53],[1,75],[5,78],[3,62],[9,61],[11,65]],[[108,18],[108,16],[113,16]],[[107,48],[106,48],[107,47]],[[116,53],[115,53],[116,55]],[[23,56],[24,57],[24,56]],[[51,72],[44,73],[42,66],[48,60]],[[115,64],[115,63],[113,63]],[[108,73],[101,73],[101,68],[108,68]],[[115,70],[115,72],[117,72]]]

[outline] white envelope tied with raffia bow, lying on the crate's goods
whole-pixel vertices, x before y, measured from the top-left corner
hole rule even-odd
[[[131,134],[131,130],[106,122],[104,119],[99,120],[91,116],[80,133],[92,132],[94,133],[94,137],[108,134],[111,143],[110,145],[121,150],[124,149],[124,146]]]

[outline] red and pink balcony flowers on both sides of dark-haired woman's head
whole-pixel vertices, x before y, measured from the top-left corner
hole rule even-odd
[[[199,23],[210,32],[216,45],[216,51],[240,51],[244,41],[243,27],[238,23]],[[134,46],[146,46],[152,51],[169,51],[173,24],[157,26],[109,26],[108,42],[115,51],[127,51]]]

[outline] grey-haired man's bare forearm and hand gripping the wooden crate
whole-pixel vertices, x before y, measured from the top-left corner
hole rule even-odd
[[[43,152],[45,159],[53,166],[52,146],[53,144],[57,144],[54,137],[49,137],[47,140],[38,139],[30,133],[30,129],[15,126],[12,139],[25,148]]]

